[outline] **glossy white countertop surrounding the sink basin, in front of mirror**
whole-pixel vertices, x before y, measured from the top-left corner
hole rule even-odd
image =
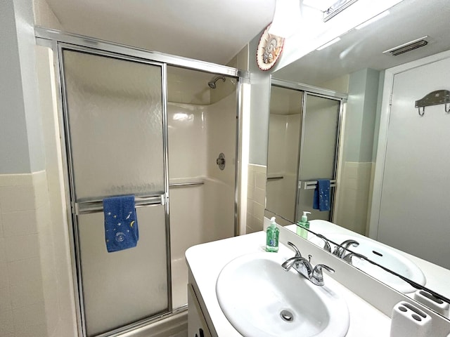
[[[256,232],[200,244],[186,251],[190,282],[193,283],[195,291],[198,292],[197,296],[201,298],[207,309],[207,312],[204,312],[207,321],[214,325],[210,326],[210,328],[214,329],[219,337],[238,337],[242,335],[233,328],[221,311],[215,292],[217,277],[224,265],[234,258],[248,253],[265,251],[265,239],[265,232]],[[277,254],[281,254],[285,259],[294,256],[293,251],[283,244],[280,244]],[[347,302],[350,314],[347,337],[390,336],[390,317],[387,317],[383,312],[356,296],[345,286],[326,275],[326,273],[324,273],[324,280],[325,286],[328,285],[330,288],[333,288]],[[212,331],[213,336],[214,331]]]

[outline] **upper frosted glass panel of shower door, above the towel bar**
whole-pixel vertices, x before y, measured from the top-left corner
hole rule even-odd
[[[77,202],[164,192],[162,67],[63,51]]]

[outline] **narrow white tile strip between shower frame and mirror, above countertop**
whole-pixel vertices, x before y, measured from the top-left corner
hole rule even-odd
[[[266,177],[266,166],[248,165],[247,234],[262,230],[266,207]]]

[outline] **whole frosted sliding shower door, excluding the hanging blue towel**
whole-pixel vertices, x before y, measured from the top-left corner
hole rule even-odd
[[[165,65],[59,52],[82,329],[97,336],[172,310]],[[108,253],[102,200],[125,194],[139,242]]]

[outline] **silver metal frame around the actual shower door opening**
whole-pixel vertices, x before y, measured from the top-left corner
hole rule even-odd
[[[76,305],[76,313],[77,313],[77,326],[78,326],[78,335],[79,337],[86,336],[86,331],[84,331],[84,310],[82,303],[82,283],[79,282],[80,276],[78,275],[79,270],[79,262],[76,258],[76,246],[79,246],[77,242],[77,235],[75,235],[75,227],[72,220],[72,206],[77,211],[77,205],[72,205],[72,192],[70,190],[70,184],[73,183],[70,181],[68,176],[68,172],[72,169],[70,165],[70,158],[68,158],[68,154],[65,151],[67,140],[65,137],[65,122],[63,121],[63,107],[67,106],[67,102],[63,101],[63,81],[61,77],[62,60],[60,52],[62,48],[74,49],[74,50],[84,50],[92,53],[105,53],[105,55],[112,55],[113,57],[121,58],[124,60],[136,60],[138,62],[144,62],[149,64],[160,64],[163,66],[162,72],[162,109],[164,112],[165,120],[163,123],[165,124],[165,128],[167,128],[167,65],[172,65],[176,67],[184,67],[186,69],[198,70],[201,72],[210,72],[212,74],[224,75],[227,77],[233,77],[238,80],[238,86],[236,86],[236,170],[235,170],[235,193],[234,193],[234,234],[238,234],[238,223],[240,221],[240,182],[241,182],[241,173],[240,173],[240,165],[242,164],[242,153],[240,152],[240,144],[242,142],[242,111],[243,111],[243,98],[242,98],[242,90],[243,85],[247,84],[250,79],[250,74],[244,70],[238,70],[233,67],[228,67],[224,65],[217,65],[210,62],[205,62],[201,60],[193,60],[190,58],[183,58],[176,55],[169,55],[165,53],[159,53],[155,51],[148,51],[142,48],[136,48],[132,46],[126,46],[122,44],[115,44],[110,41],[103,41],[101,39],[95,39],[91,37],[85,37],[78,34],[71,34],[66,32],[61,32],[57,29],[48,29],[44,27],[34,27],[34,34],[36,37],[37,45],[45,46],[51,48],[53,51],[53,67],[55,69],[56,74],[56,105],[58,109],[58,124],[60,130],[60,146],[63,150],[61,152],[61,157],[63,161],[63,172],[65,173],[63,176],[64,179],[64,187],[65,187],[65,201],[67,206],[67,216],[68,216],[68,225],[69,225],[69,239],[70,239],[70,258],[72,260],[72,275],[73,281],[75,283],[74,291],[75,291],[75,305]],[[168,133],[165,131],[165,216],[166,216],[166,232],[170,233],[169,226],[169,175],[168,175]],[[92,206],[92,205],[91,205]],[[94,205],[94,208],[96,206]],[[170,237],[167,235],[167,251],[170,254]],[[170,256],[167,258],[168,272],[168,296],[169,296],[169,310],[170,312],[167,315],[162,315],[161,317],[146,319],[143,322],[136,322],[135,324],[130,324],[126,326],[124,329],[117,329],[113,334],[105,333],[101,336],[116,336],[124,331],[129,331],[131,329],[140,328],[142,326],[146,326],[151,322],[156,322],[159,319],[163,319],[165,317],[170,317],[172,315],[176,315],[178,312],[185,311],[187,308],[179,308],[179,310],[175,310],[172,308],[172,291],[171,291],[171,267],[170,267]],[[100,336],[99,336],[100,337]]]

